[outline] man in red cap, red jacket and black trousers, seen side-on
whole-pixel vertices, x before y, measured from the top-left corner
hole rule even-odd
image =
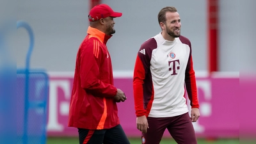
[[[107,4],[94,6],[90,26],[77,52],[68,126],[77,127],[79,143],[129,143],[118,118],[116,102],[122,90],[113,85],[113,70],[106,43],[115,33],[114,12]]]

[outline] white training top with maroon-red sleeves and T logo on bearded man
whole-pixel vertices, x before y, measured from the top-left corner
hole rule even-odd
[[[135,62],[133,88],[137,117],[187,113],[186,91],[191,107],[199,108],[188,38],[179,36],[168,41],[159,33],[144,42]]]

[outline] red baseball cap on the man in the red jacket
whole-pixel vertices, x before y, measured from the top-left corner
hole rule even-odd
[[[89,20],[92,22],[94,20],[99,20],[106,17],[121,17],[122,13],[114,12],[110,6],[107,4],[98,4],[94,6],[88,15]]]

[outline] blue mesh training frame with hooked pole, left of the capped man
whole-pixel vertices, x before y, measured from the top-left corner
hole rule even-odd
[[[45,70],[29,66],[34,35],[25,21],[17,22],[17,29],[28,31],[30,44],[25,68],[17,69],[17,143],[45,144],[49,77]]]

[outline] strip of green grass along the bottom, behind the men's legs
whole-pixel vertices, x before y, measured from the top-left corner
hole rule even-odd
[[[129,138],[131,144],[141,144],[140,138]],[[163,138],[161,144],[175,144],[176,142],[171,138]],[[205,140],[205,139],[198,139],[198,144],[238,144],[239,139],[220,139],[220,140]],[[55,138],[50,137],[47,138],[47,144],[79,144],[78,138],[68,138],[68,137],[61,137]],[[244,142],[243,144],[255,144],[253,141]]]

